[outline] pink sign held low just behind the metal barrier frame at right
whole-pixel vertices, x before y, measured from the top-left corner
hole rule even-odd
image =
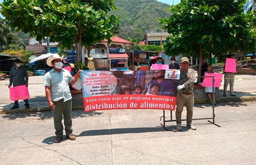
[[[223,77],[223,74],[207,73],[204,76],[205,77],[204,77],[202,86],[212,87],[212,77],[209,77],[209,76],[214,76],[214,87],[221,86],[221,79]]]

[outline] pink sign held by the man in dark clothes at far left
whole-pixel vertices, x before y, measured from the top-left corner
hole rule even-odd
[[[26,85],[10,88],[10,100],[26,100],[29,98],[29,89],[26,87]]]

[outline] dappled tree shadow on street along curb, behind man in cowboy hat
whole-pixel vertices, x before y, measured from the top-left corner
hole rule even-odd
[[[84,110],[73,110],[72,111],[72,118],[77,118],[77,117],[93,117],[93,116],[98,116],[101,115],[103,112],[88,112],[84,113]],[[11,113],[11,114],[3,114],[2,118],[4,119],[17,119],[17,118],[25,118],[25,117],[38,117],[38,120],[44,120],[44,119],[51,119],[52,112],[51,111],[44,111],[44,112],[29,112],[29,113]]]

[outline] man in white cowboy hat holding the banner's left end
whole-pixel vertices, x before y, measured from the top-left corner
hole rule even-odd
[[[64,116],[64,126],[66,137],[70,140],[75,140],[76,137],[72,134],[72,97],[69,89],[69,83],[75,84],[82,70],[79,70],[75,77],[72,77],[69,71],[62,68],[63,56],[58,54],[47,59],[47,65],[52,66],[52,70],[44,76],[44,86],[49,108],[52,109],[54,128],[56,138],[55,143],[61,142],[63,136],[63,125],[61,123],[62,114]]]

